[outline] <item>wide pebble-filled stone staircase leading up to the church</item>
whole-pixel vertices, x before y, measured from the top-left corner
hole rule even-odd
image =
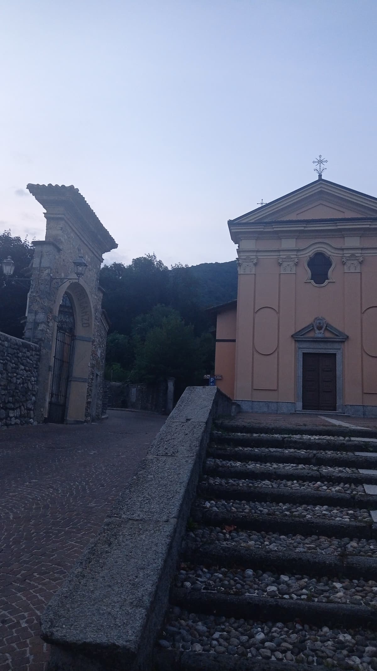
[[[374,435],[265,428],[216,424],[156,668],[377,670]]]

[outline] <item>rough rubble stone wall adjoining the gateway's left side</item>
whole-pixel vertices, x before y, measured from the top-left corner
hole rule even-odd
[[[0,333],[0,426],[32,424],[40,348]]]

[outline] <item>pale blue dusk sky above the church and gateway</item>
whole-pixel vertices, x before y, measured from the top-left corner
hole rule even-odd
[[[106,263],[236,257],[227,221],[323,177],[377,196],[376,0],[3,0],[0,231],[73,184]]]

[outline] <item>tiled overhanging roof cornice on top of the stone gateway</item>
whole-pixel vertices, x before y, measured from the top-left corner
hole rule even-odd
[[[66,187],[64,184],[61,186],[58,184],[28,184],[26,188],[46,211],[49,207],[64,205],[64,207],[72,211],[72,214],[76,218],[84,219],[96,235],[102,254],[117,248],[117,242],[115,242],[114,238],[110,236],[104,225],[102,225],[96,213],[84,199],[84,196],[73,185]]]

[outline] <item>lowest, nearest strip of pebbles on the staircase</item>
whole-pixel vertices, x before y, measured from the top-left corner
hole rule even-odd
[[[372,631],[197,615],[178,607],[169,612],[159,645],[271,662],[377,670],[377,637]]]

